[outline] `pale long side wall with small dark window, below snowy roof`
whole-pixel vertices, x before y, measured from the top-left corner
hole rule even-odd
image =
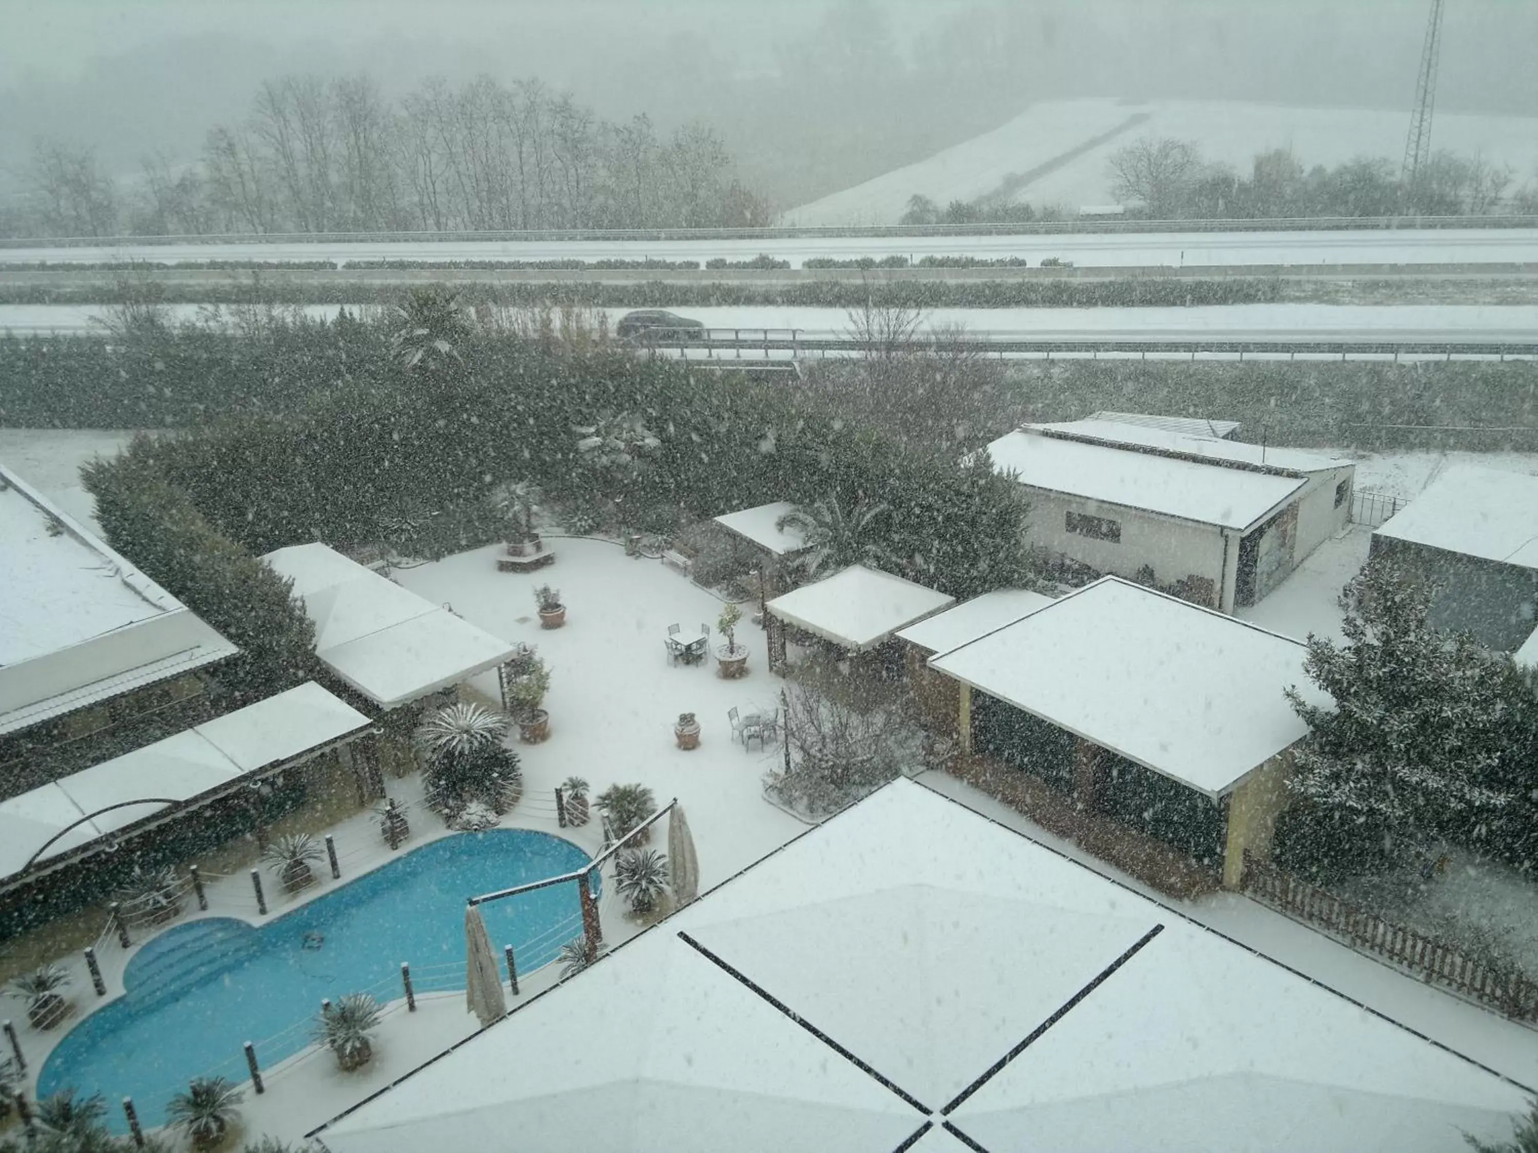
[[[1223,533],[1217,526],[1157,517],[1121,504],[1064,497],[1029,484],[1023,487],[1030,501],[1030,544],[1060,552],[1117,576],[1135,578],[1138,569],[1147,564],[1161,586],[1186,576],[1206,576],[1218,590],[1215,596],[1221,595]],[[1101,541],[1067,532],[1064,527],[1067,512],[1118,521],[1121,541]]]

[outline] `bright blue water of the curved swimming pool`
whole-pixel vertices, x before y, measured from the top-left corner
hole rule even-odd
[[[115,1105],[131,1096],[140,1118],[158,1125],[169,1096],[192,1078],[245,1081],[241,1042],[257,1042],[263,1067],[305,1048],[308,1027],[266,1045],[261,1041],[318,1013],[321,999],[381,981],[394,984],[380,1001],[401,996],[401,961],[420,975],[418,989],[444,987],[444,970],[435,976],[426,970],[457,962],[452,987],[461,989],[464,898],[558,876],[588,859],[577,846],[548,833],[461,833],[406,853],[261,929],[226,918],[169,929],[129,961],[128,993],[60,1041],[38,1075],[38,1093],[71,1085],[77,1093],[103,1093],[114,1127],[125,1133]],[[495,901],[481,913],[498,959],[511,944],[520,973],[554,961],[581,933],[575,884]],[[306,949],[306,935],[315,933],[323,936],[320,947]]]

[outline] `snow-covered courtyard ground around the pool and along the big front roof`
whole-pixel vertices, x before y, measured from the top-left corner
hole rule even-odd
[[[546,537],[546,541],[557,560],[534,573],[498,572],[501,546],[397,567],[392,573],[404,589],[449,607],[471,624],[506,641],[537,646],[549,667],[551,686],[543,703],[549,712],[549,738],[538,744],[521,744],[515,733],[509,736],[509,744],[521,758],[524,792],[520,802],[501,818],[501,827],[557,835],[583,853],[594,855],[603,842],[600,821],[595,816],[580,829],[561,829],[555,812],[555,787],[575,775],[589,781],[591,792],[597,796],[614,784],[638,783],[652,790],[658,806],[677,798],[687,813],[698,853],[700,892],[724,882],[803,833],[807,824],[766,801],[763,793],[766,775],[777,772],[781,764],[783,730],[778,739],[766,739],[761,747],[754,743],[747,750],[741,741],[734,739],[729,723],[732,709],[740,715],[774,710],[786,687],[784,680],[769,673],[764,632],[747,618],[755,606],[741,606],[744,618],[737,627],[737,643],[751,650],[747,675],[723,680],[714,658],[714,649],[721,641],[717,620],[723,610],[723,601],[715,593],[657,560],[628,557],[621,546],[611,541],[561,537]],[[568,613],[563,627],[541,629],[535,589],[543,584],[560,590]],[[671,658],[667,636],[672,624],[681,626],[680,635],[698,632],[701,624],[707,626],[711,641],[704,661],[686,664]],[[495,673],[475,676],[460,693],[494,706],[500,701]],[[697,749],[681,749],[675,738],[675,723],[681,713],[694,713],[700,723]],[[1154,895],[1074,844],[1054,838],[943,772],[926,772],[918,779],[1344,993],[1361,1004],[1364,1012],[1390,1016],[1521,1084],[1538,1084],[1538,1036],[1521,1024],[1427,987],[1243,896],[1217,893],[1193,902],[1177,902]],[[332,806],[297,813],[292,827],[334,836],[341,864],[340,881],[331,879],[325,864],[320,864],[315,869],[318,884],[300,895],[286,896],[265,872],[269,909],[266,915],[260,915],[248,876],[248,870],[257,864],[257,850],[252,844],[237,842],[218,859],[205,862],[212,878],[208,886],[209,909],[198,912],[189,902],[174,927],[220,916],[257,925],[269,924],[317,898],[337,893],[369,870],[398,861],[401,853],[420,850],[451,835],[443,819],[421,804],[418,773],[386,775],[384,784],[388,795],[403,806],[411,824],[411,836],[398,850],[392,852],[383,842],[378,818],[371,812],[354,810],[345,815]],[[654,838],[652,847],[666,850],[666,839]],[[628,915],[623,899],[614,890],[612,870],[606,870],[598,909],[609,947],[646,927],[643,919]],[[455,893],[466,898],[472,895]],[[397,915],[409,918],[412,909],[406,904]],[[100,915],[94,924],[100,924]],[[571,938],[580,935],[581,919],[574,896],[569,915],[555,929]],[[454,930],[457,922],[449,932]],[[92,936],[94,933],[85,936],[78,944],[89,944]],[[154,939],[148,933],[145,938]],[[106,996],[92,995],[78,944],[69,958],[58,958],[74,975],[69,996],[77,1019],[49,1033],[28,1028],[20,1021],[17,1024],[32,1078],[43,1067],[49,1050],[60,1042],[65,1028],[80,1024],[78,1015],[106,1005],[123,993],[125,967],[145,939],[135,936],[134,949],[128,952],[111,941],[98,941]],[[498,959],[500,944],[500,939],[492,939]],[[415,1012],[408,1012],[400,979],[394,976],[401,961],[412,964]],[[458,956],[421,961],[388,956],[381,958],[381,972],[384,976],[371,990],[386,1002],[384,1016],[374,1035],[374,1059],[357,1072],[341,1072],[325,1047],[308,1045],[271,1067],[263,1062],[265,1093],[257,1096],[249,1084],[245,1085],[246,1096],[240,1108],[246,1135],[298,1139],[480,1027],[477,1018],[466,1010],[464,964]],[[508,996],[509,1008],[551,989],[561,976],[561,965],[544,964],[537,972],[520,976],[520,995]],[[226,976],[226,981],[231,979],[238,981],[238,973]],[[578,984],[558,996],[580,996],[580,981],[578,976]],[[335,996],[348,992],[355,990],[338,987]],[[205,1072],[245,1082],[246,1070],[238,1047],[241,1041],[254,1041],[260,1055],[265,1047],[271,1052],[271,1045],[283,1035],[292,1041],[295,1032],[301,1033],[311,1022],[312,1016],[272,1021],[274,1036],[231,1038],[223,1064]],[[509,1022],[504,1028],[517,1025]],[[601,1035],[574,1039],[574,1044],[603,1042]],[[168,1035],[165,1044],[172,1047],[178,1042],[174,1035]],[[29,1082],[29,1095],[34,1088],[35,1082]],[[122,1093],[112,1085],[102,1088],[117,1115]],[[177,1088],[174,1084],[165,1085],[165,1093]]]

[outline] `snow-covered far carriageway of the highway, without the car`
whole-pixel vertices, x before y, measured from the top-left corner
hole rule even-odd
[[[1075,267],[1181,269],[1329,267],[1380,264],[1538,264],[1538,229],[1320,232],[1150,232],[1067,235],[751,237],[711,240],[318,240],[280,243],[129,243],[0,248],[0,264],[111,261],[369,261],[369,260],[752,260],[767,254],[801,267],[823,257],[1017,257]]]

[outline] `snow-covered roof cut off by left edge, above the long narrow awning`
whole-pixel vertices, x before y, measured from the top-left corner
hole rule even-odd
[[[0,733],[238,649],[0,467]]]

